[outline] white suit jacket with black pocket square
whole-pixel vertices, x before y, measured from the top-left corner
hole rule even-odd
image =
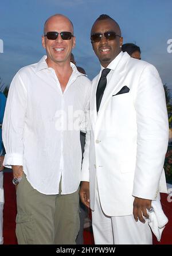
[[[131,215],[134,196],[155,200],[166,192],[163,164],[169,139],[165,92],[155,67],[122,55],[96,112],[92,81],[90,131],[82,168],[94,210],[95,186],[108,216]]]

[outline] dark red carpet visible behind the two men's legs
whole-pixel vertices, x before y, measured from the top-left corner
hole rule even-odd
[[[4,190],[5,190],[5,205],[3,211],[3,239],[5,245],[16,245],[17,239],[15,237],[15,216],[16,216],[16,199],[15,187],[11,182],[12,173],[4,173]],[[172,202],[167,201],[167,195],[161,194],[162,208],[165,212],[169,222],[162,233],[161,242],[157,242],[154,237],[154,245],[172,245]],[[93,235],[89,229],[84,230],[84,245],[93,245]]]

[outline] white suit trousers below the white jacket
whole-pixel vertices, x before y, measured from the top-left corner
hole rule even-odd
[[[97,186],[96,186],[97,187]],[[133,215],[107,216],[101,209],[96,189],[95,211],[92,211],[95,245],[152,245],[148,223],[135,221]]]

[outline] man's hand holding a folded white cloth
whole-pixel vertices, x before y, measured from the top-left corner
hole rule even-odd
[[[145,223],[143,216],[145,218],[148,218],[146,209],[150,209],[150,208],[151,208],[151,200],[135,197],[134,203],[133,203],[133,215],[134,215],[135,221],[137,222],[139,219],[140,222]]]

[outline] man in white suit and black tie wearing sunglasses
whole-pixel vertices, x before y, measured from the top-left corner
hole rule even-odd
[[[121,51],[119,25],[108,15],[93,24],[91,41],[101,71],[92,81],[81,200],[91,207],[96,244],[151,244],[147,210],[166,192],[162,82],[153,65]]]

